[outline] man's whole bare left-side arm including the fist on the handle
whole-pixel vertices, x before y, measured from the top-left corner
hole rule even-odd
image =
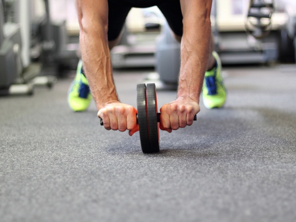
[[[137,110],[119,102],[108,45],[108,0],[76,0],[83,68],[107,130],[138,131]]]

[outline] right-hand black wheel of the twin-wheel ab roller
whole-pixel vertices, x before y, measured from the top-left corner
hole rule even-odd
[[[154,83],[147,84],[148,132],[151,152],[159,151],[159,123],[157,122],[157,98]]]

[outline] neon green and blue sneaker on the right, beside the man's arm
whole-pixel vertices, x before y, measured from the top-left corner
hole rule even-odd
[[[221,108],[226,101],[226,88],[221,76],[221,60],[217,52],[213,52],[217,67],[205,74],[202,86],[203,104],[207,109]]]

